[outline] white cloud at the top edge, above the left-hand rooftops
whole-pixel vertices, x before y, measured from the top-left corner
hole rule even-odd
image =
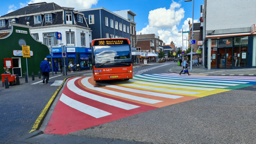
[[[75,10],[90,8],[91,5],[97,4],[98,0],[30,0],[28,3],[37,2],[54,2],[59,6],[73,7]]]

